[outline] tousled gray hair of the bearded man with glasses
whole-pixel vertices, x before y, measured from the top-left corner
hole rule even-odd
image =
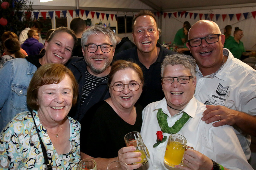
[[[89,29],[85,30],[81,37],[82,48],[84,48],[84,45],[86,45],[87,40],[91,35],[93,35],[93,34],[98,35],[99,33],[103,33],[105,35],[105,37],[106,37],[106,35],[109,36],[111,45],[114,48],[116,48],[116,45],[117,45],[116,34],[112,30],[110,30],[109,28],[104,27],[104,26],[93,26],[93,27],[90,27]]]

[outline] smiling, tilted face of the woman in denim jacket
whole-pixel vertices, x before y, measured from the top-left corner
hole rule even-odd
[[[72,55],[74,44],[74,39],[70,34],[56,33],[51,41],[45,42],[45,55],[41,59],[41,65],[46,63],[66,64]]]

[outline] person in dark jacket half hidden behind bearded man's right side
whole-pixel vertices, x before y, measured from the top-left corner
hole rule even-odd
[[[114,56],[116,56],[117,53],[120,53],[124,50],[135,47],[133,42],[128,37],[120,38],[119,36],[116,35],[116,38],[117,38],[117,46],[114,51]]]

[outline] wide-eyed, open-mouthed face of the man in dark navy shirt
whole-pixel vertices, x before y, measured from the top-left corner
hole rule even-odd
[[[133,40],[138,50],[143,53],[157,50],[159,38],[157,24],[149,15],[139,16],[133,26]]]

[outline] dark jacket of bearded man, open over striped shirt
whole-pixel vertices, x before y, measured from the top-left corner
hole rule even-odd
[[[72,107],[68,116],[78,120],[79,122],[84,117],[89,108],[99,101],[103,101],[110,97],[107,80],[100,83],[93,91],[86,97],[85,101],[81,105],[81,97],[85,83],[85,71],[87,64],[82,57],[71,57],[67,63],[67,67],[73,72],[78,85],[79,95],[76,106]]]

